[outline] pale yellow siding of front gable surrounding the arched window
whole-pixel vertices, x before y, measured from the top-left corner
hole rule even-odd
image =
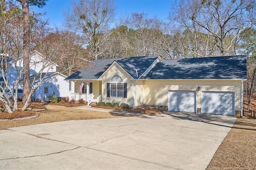
[[[114,69],[115,64],[108,70],[102,77],[102,101],[110,103],[127,103],[132,107],[132,81],[130,75],[128,75],[121,67],[118,70]],[[107,83],[110,83],[110,79],[113,75],[120,75],[127,83],[127,98],[121,97],[107,97]]]

